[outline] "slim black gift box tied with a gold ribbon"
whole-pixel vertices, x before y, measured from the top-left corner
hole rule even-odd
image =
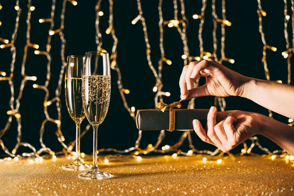
[[[179,131],[194,130],[193,120],[197,119],[206,127],[207,109],[173,109],[175,111],[174,129]],[[136,124],[139,130],[169,130],[170,110],[138,110]]]

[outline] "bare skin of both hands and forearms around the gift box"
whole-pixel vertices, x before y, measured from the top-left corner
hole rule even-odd
[[[206,84],[193,88],[193,82],[206,77]],[[218,62],[207,59],[191,62],[183,68],[179,81],[183,100],[202,96],[240,96],[276,113],[294,119],[294,87],[273,81],[246,77]],[[229,152],[253,135],[263,135],[294,155],[294,127],[258,113],[239,110],[217,112],[212,106],[207,116],[207,130],[193,121],[200,139]]]

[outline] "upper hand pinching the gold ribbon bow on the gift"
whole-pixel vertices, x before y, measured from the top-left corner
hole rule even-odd
[[[206,77],[206,84],[193,88],[193,83],[200,76]],[[183,100],[202,96],[242,96],[247,77],[236,73],[212,60],[191,62],[183,68],[179,85]]]

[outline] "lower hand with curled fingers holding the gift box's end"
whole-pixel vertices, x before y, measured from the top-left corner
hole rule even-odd
[[[207,115],[207,130],[198,120],[193,126],[199,138],[209,144],[219,147],[223,152],[229,152],[261,131],[263,115],[239,110],[217,112],[212,106]]]

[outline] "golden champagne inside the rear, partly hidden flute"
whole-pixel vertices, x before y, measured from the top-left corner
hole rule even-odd
[[[85,118],[82,102],[82,78],[65,79],[66,106],[75,122],[82,122]]]

